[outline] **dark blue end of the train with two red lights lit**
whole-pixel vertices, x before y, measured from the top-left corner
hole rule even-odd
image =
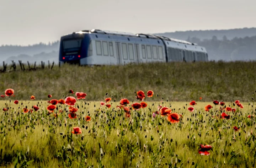
[[[60,39],[59,63],[79,64],[87,56],[90,39],[85,32],[74,32]]]

